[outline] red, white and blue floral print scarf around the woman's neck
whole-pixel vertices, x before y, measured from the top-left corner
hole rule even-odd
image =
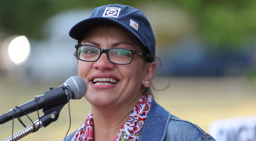
[[[117,132],[113,141],[138,141],[142,127],[151,106],[151,97],[144,93],[133,108],[130,116]],[[93,141],[93,113],[89,113],[84,123],[75,133],[72,141]]]

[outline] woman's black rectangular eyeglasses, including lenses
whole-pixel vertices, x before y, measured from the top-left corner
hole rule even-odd
[[[143,53],[127,48],[102,49],[93,45],[75,45],[75,48],[77,50],[77,58],[86,62],[97,61],[102,53],[107,53],[107,58],[111,63],[119,65],[130,64],[135,53],[146,59]]]

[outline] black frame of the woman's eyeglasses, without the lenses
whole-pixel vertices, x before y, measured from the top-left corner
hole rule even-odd
[[[107,58],[108,58],[109,62],[111,62],[111,63],[113,63],[113,64],[117,64],[117,65],[127,65],[127,64],[130,64],[130,63],[132,62],[133,55],[134,55],[135,53],[136,53],[136,54],[139,54],[141,57],[143,57],[144,59],[146,59],[146,55],[143,54],[143,53],[141,53],[141,52],[139,52],[139,51],[137,51],[137,50],[132,50],[132,49],[128,49],[128,48],[109,48],[109,49],[102,49],[102,48],[99,48],[98,46],[93,46],[93,47],[95,47],[95,48],[100,49],[100,55],[99,55],[99,57],[98,57],[96,60],[94,60],[94,61],[86,61],[86,60],[82,60],[81,58],[78,57],[78,48],[79,48],[80,46],[93,46],[93,45],[75,45],[77,59],[79,59],[79,60],[81,60],[81,61],[84,61],[84,62],[95,62],[95,61],[97,61],[97,60],[100,58],[100,56],[102,55],[102,53],[106,53],[106,54],[107,54]],[[129,63],[126,63],[126,64],[119,64],[119,63],[114,63],[114,62],[110,61],[110,59],[109,59],[109,53],[108,53],[108,52],[109,52],[109,50],[111,50],[111,49],[123,49],[123,50],[128,50],[128,51],[132,52],[131,61],[130,61]]]

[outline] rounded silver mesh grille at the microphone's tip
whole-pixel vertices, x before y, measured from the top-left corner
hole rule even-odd
[[[73,81],[72,77],[74,78],[75,82]],[[74,93],[73,100],[79,100],[81,99],[87,91],[87,85],[84,79],[82,79],[79,76],[71,76],[68,78],[65,82],[67,86],[71,89],[71,91]],[[78,88],[77,88],[78,87]]]

